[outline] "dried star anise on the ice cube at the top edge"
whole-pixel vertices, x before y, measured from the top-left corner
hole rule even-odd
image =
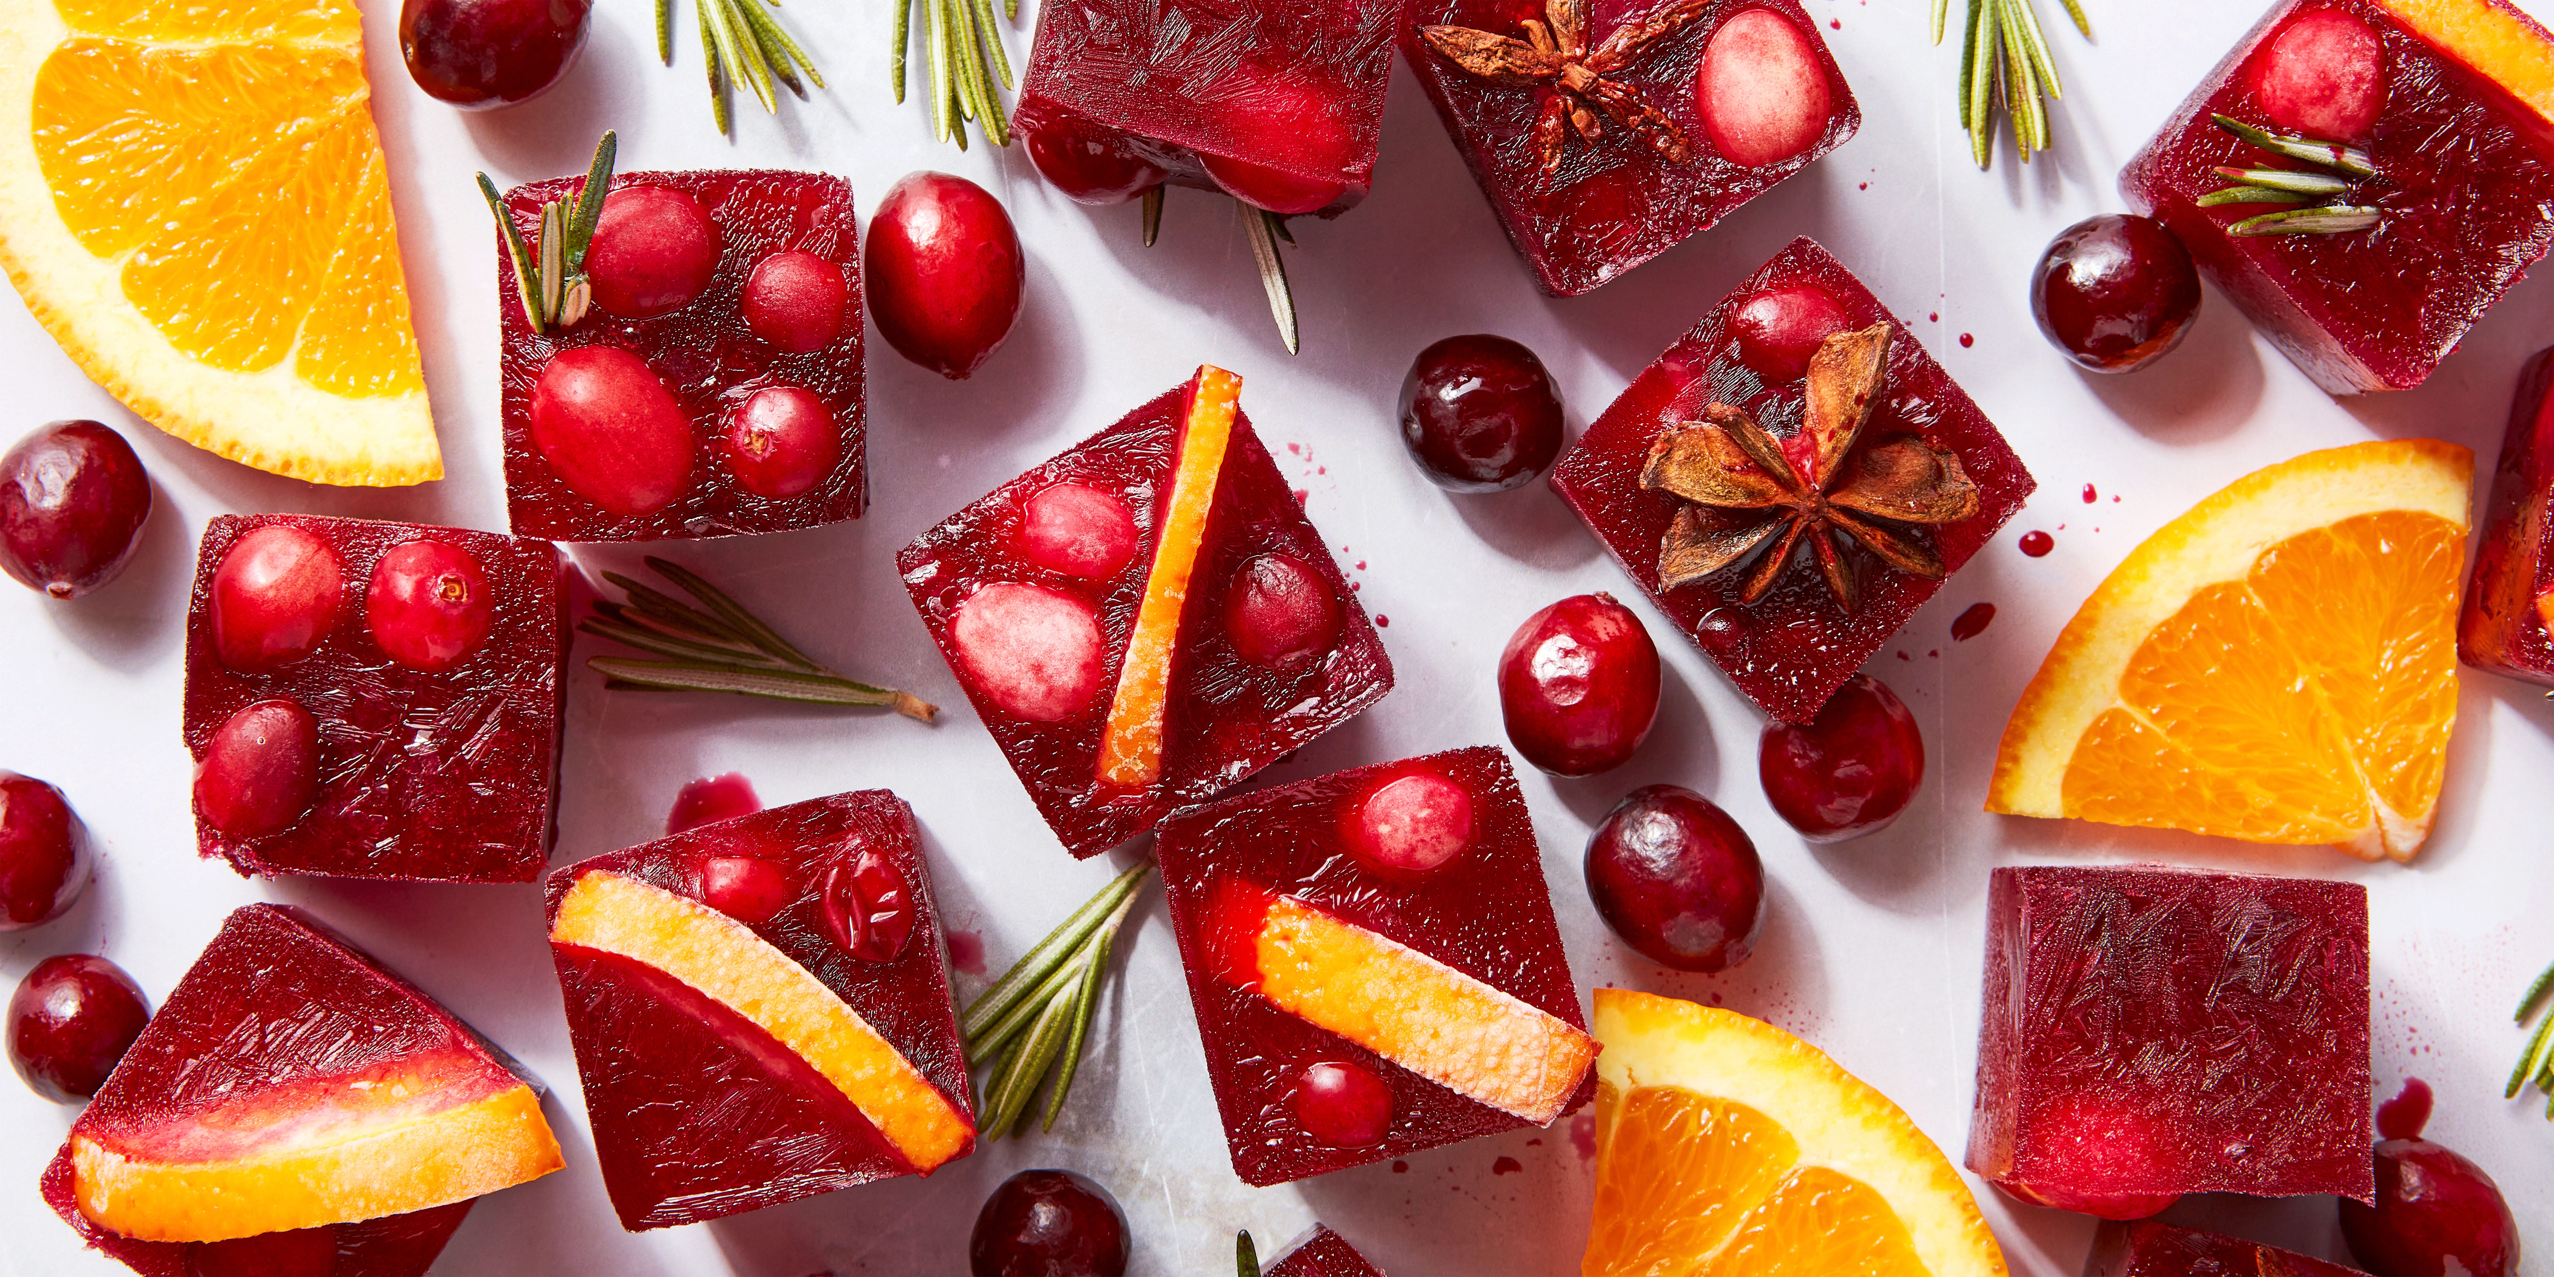
[[[1693,158],[1686,133],[1642,100],[1640,89],[1614,79],[1614,72],[1698,18],[1706,3],[1665,0],[1647,15],[1617,26],[1596,49],[1589,49],[1586,41],[1586,0],[1543,0],[1543,20],[1527,18],[1522,41],[1469,26],[1423,26],[1420,38],[1446,61],[1481,79],[1550,84],[1553,94],[1543,100],[1543,112],[1535,117],[1535,148],[1543,153],[1545,174],[1560,169],[1568,130],[1578,130],[1591,146],[1604,138],[1599,110],[1668,161],[1686,163]]]

